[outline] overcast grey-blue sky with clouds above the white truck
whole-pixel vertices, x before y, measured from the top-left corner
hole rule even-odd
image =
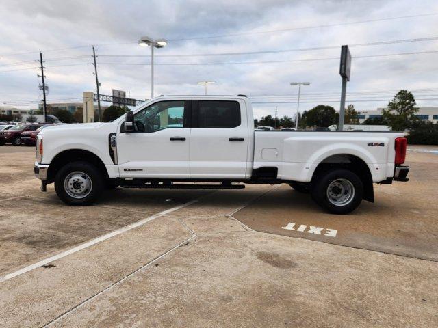
[[[353,56],[347,103],[387,104],[412,90],[420,106],[438,106],[438,2],[430,1],[0,1],[0,105],[36,108],[39,51],[48,101],[81,101],[94,91],[91,45],[101,93],[151,94],[149,48],[141,36],[168,39],[155,51],[155,95],[247,94],[255,115],[293,116],[320,103],[339,109],[339,53]],[[395,55],[410,53],[405,55]]]

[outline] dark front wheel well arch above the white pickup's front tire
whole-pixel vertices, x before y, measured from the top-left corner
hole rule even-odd
[[[91,163],[92,165],[96,166],[100,172],[102,172],[106,179],[109,179],[107,168],[99,156],[89,152],[88,150],[70,149],[60,152],[53,158],[47,171],[47,180],[55,180],[55,176],[60,168],[73,161],[86,161]]]

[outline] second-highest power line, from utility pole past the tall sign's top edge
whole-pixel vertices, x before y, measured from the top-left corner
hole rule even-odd
[[[378,42],[365,42],[358,44],[348,44],[350,47],[359,46],[379,46],[386,44],[400,44],[409,42],[424,42],[438,40],[438,36],[432,36],[428,38],[413,38],[413,39],[402,39],[402,40],[387,40]],[[295,48],[295,49],[280,49],[280,50],[266,50],[266,51],[243,51],[234,53],[191,53],[191,54],[181,54],[181,55],[157,55],[156,57],[212,57],[212,56],[233,56],[233,55],[262,55],[265,53],[289,53],[294,51],[315,51],[315,50],[327,50],[327,49],[339,49],[341,45],[337,46],[313,46],[309,48]],[[99,55],[99,57],[151,57],[150,55]]]

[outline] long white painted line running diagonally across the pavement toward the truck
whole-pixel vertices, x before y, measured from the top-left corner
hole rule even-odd
[[[48,263],[53,262],[55,260],[59,260],[60,258],[64,258],[70,254],[74,254],[77,251],[81,251],[82,249],[86,249],[87,247],[90,247],[92,245],[96,245],[97,243],[100,243],[101,241],[106,241],[107,239],[110,239],[114,236],[117,236],[118,234],[123,234],[123,232],[127,232],[133,228],[140,227],[140,226],[144,225],[144,223],[148,223],[148,222],[152,221],[153,219],[157,219],[158,217],[162,217],[164,215],[167,215],[168,213],[175,212],[175,210],[179,210],[180,208],[183,208],[185,206],[189,206],[195,202],[198,202],[198,200],[192,200],[191,202],[187,202],[187,203],[184,203],[182,205],[169,208],[168,210],[163,210],[162,212],[159,212],[155,215],[152,215],[151,217],[146,217],[146,219],[142,219],[142,220],[137,221],[135,223],[131,223],[129,226],[125,226],[123,228],[114,230],[113,232],[110,232],[109,234],[104,234],[103,236],[94,238],[91,241],[87,241],[86,243],[83,243],[81,245],[78,245],[76,247],[68,249],[67,251],[63,251],[60,254],[56,254],[56,255],[51,256],[49,258],[45,258],[44,260],[41,260],[41,261],[36,262],[34,264],[31,264],[27,267],[24,267],[23,269],[20,269],[18,271],[15,271],[13,273],[9,273],[8,275],[0,277],[0,282],[4,282],[5,280],[12,279],[13,277],[16,277],[18,275],[23,275],[23,273],[26,273],[26,272],[29,272],[29,271],[34,270],[36,268],[42,267],[44,264],[48,264]]]

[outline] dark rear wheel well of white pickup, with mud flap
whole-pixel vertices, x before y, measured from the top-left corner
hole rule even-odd
[[[313,172],[312,182],[324,172],[334,168],[349,169],[361,178],[363,183],[363,199],[374,202],[374,189],[370,167],[359,157],[351,154],[337,154],[329,156],[322,161],[315,172]]]

